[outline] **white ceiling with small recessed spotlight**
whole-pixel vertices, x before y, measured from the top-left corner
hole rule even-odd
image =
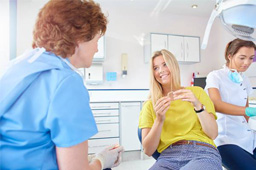
[[[95,0],[101,6],[119,10],[140,10],[150,15],[175,14],[210,17],[216,0]],[[193,9],[193,4],[198,8]]]

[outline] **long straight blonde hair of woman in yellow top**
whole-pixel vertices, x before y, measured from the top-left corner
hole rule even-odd
[[[154,65],[153,61],[156,57],[163,56],[164,61],[170,70],[171,74],[171,90],[180,89],[180,68],[178,61],[174,55],[168,50],[156,51],[150,60],[150,94],[149,100],[152,100],[153,105],[156,104],[157,100],[163,97],[162,85],[156,80],[154,76]]]

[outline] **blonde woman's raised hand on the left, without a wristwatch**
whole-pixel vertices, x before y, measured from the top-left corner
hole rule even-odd
[[[156,113],[156,118],[163,122],[165,120],[165,113],[170,108],[171,98],[169,96],[162,97],[157,100],[154,111]]]

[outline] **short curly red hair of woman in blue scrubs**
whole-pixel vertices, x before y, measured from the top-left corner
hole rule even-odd
[[[78,41],[104,35],[107,19],[92,0],[50,0],[39,12],[32,47],[66,58],[75,53]]]

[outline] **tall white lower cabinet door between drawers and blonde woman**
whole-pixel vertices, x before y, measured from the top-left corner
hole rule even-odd
[[[126,151],[140,150],[138,139],[138,124],[140,115],[140,102],[121,103],[120,113],[120,142]]]

